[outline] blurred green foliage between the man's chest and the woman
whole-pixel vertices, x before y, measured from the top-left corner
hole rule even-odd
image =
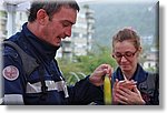
[[[107,63],[112,68],[117,66],[116,61],[110,56],[108,48],[98,47],[98,52],[89,52],[88,55],[73,56],[72,61],[69,62],[63,59],[58,59],[59,66],[68,84],[77,82],[77,76],[71,74],[71,72],[75,72],[79,79],[82,79],[84,75],[78,74],[79,72],[89,75],[100,64]]]

